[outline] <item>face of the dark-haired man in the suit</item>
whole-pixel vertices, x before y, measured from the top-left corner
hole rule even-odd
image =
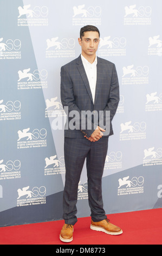
[[[78,41],[82,48],[82,55],[84,57],[95,56],[100,42],[98,32],[87,31],[84,36],[82,36],[82,39],[79,38]]]

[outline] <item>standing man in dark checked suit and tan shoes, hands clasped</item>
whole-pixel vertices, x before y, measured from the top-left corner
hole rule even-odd
[[[112,235],[122,233],[105,215],[101,188],[108,137],[113,134],[111,121],[119,103],[118,76],[113,63],[96,57],[100,41],[98,28],[91,25],[81,28],[78,41],[81,55],[61,68],[61,101],[68,116],[64,130],[66,181],[64,225],[60,233],[63,242],[73,240],[77,188],[85,159],[92,217],[90,228]],[[101,120],[106,122],[105,127],[101,127]]]

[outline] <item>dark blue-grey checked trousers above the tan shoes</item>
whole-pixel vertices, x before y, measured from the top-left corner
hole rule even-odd
[[[86,159],[88,178],[88,202],[92,220],[102,221],[107,216],[103,210],[102,174],[108,148],[108,137],[97,142],[86,138],[64,138],[66,180],[63,192],[63,218],[66,224],[77,222],[77,189]]]

